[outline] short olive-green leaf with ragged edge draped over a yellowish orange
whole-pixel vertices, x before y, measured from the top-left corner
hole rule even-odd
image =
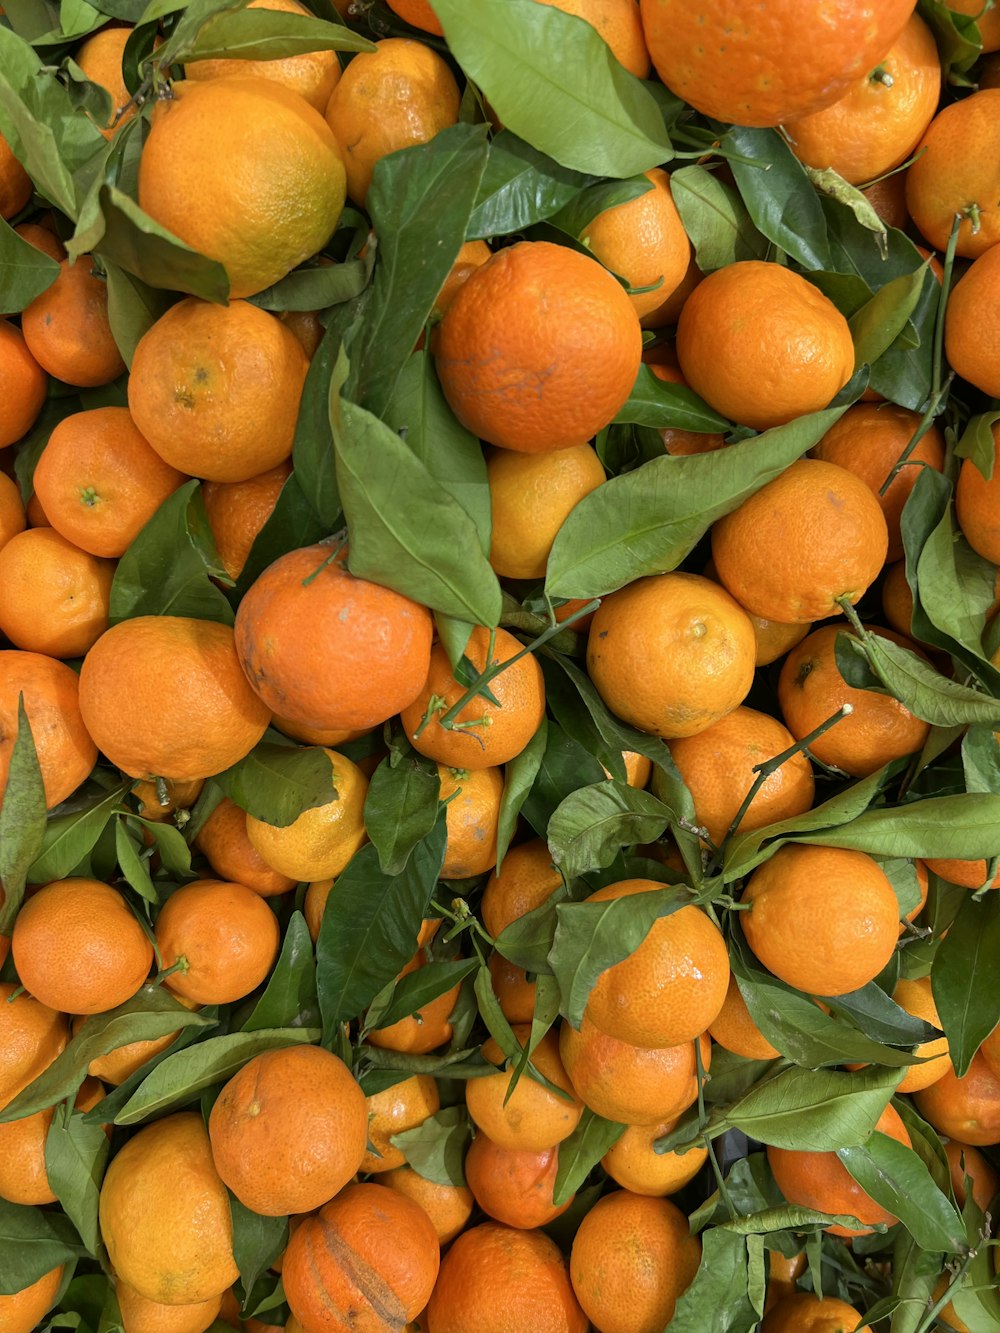
[[[323,746],[268,740],[215,774],[231,801],[275,828],[287,828],[304,810],[336,801],[336,764]]]

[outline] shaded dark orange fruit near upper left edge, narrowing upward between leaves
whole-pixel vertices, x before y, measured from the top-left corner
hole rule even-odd
[[[91,389],[125,369],[108,321],[108,284],[81,255],[21,313],[21,332],[39,365],[65,384]]]

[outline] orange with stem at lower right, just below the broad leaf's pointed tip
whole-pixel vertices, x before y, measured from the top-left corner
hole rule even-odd
[[[712,527],[719,577],[741,607],[784,624],[860,600],[885,563],[879,501],[845,468],[799,459]]]

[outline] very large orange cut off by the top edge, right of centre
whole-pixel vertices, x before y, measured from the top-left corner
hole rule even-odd
[[[881,60],[916,0],[641,0],[671,92],[737,125],[780,125],[836,101]]]

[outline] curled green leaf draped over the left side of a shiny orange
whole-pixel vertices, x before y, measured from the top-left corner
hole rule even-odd
[[[688,889],[665,888],[604,902],[557,904],[549,964],[561,992],[560,1012],[573,1028],[580,1026],[597,977],[635,953],[655,921],[689,901]]]

